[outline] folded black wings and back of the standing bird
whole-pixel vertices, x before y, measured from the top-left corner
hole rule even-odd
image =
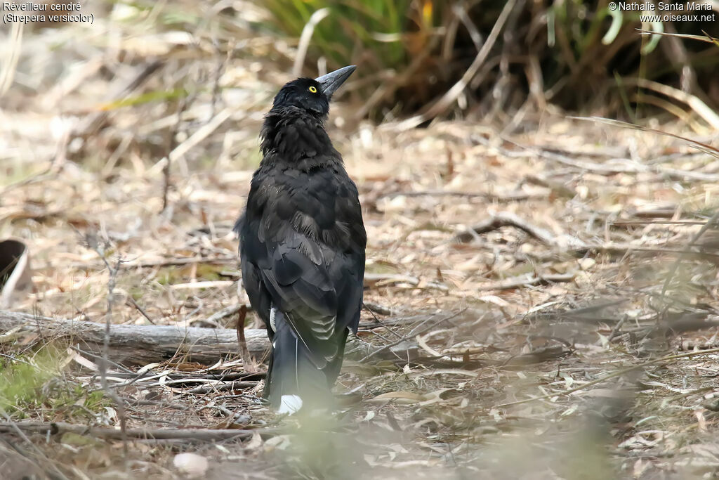
[[[280,309],[325,368],[341,353],[344,328],[359,323],[366,235],[357,189],[327,172],[258,180],[240,234],[245,288],[267,317],[270,304]]]

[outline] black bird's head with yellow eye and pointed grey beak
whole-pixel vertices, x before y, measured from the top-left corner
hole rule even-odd
[[[352,75],[355,68],[357,67],[349,65],[317,78],[290,81],[275,96],[273,110],[296,107],[317,117],[326,117],[332,94]]]

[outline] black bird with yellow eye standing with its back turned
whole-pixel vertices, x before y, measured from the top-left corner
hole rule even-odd
[[[357,186],[324,128],[332,94],[355,68],[298,78],[275,96],[234,228],[244,289],[273,344],[263,397],[282,413],[331,406],[359,323],[367,234]]]

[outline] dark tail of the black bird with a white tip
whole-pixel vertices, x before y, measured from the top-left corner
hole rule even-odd
[[[335,378],[336,373],[332,383]],[[262,396],[278,413],[293,414],[303,407],[331,408],[330,389],[326,373],[315,366],[309,350],[298,340],[284,315],[276,312],[273,349]]]

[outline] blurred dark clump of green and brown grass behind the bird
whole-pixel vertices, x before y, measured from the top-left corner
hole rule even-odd
[[[313,14],[306,72],[362,65],[360,114],[375,119],[423,110],[457,83],[485,47],[500,12],[508,18],[460,106],[467,112],[512,112],[527,99],[575,112],[635,117],[638,105],[666,107],[659,92],[644,95],[637,79],[664,83],[719,102],[715,45],[653,32],[718,35],[717,13],[699,22],[641,22],[642,12],[611,10],[608,1],[270,0],[258,25],[297,39]],[[665,12],[645,12],[665,13]],[[679,12],[682,13],[682,12]],[[684,12],[686,13],[686,12]],[[713,14],[713,17],[711,15]],[[317,17],[317,16],[316,16]],[[641,97],[641,98],[640,98]],[[671,110],[671,108],[669,108]],[[654,109],[651,110],[654,113]],[[449,113],[449,112],[448,112]]]

